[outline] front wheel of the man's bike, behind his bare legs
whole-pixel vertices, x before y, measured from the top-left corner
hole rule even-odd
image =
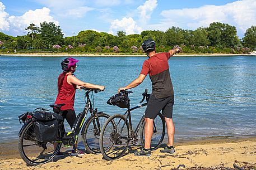
[[[154,120],[155,127],[153,132],[152,138],[151,138],[151,150],[156,150],[160,147],[162,144],[162,140],[164,140],[165,137],[165,118],[162,116],[161,113],[157,114],[156,119]],[[155,129],[156,128],[156,129]],[[160,130],[157,130],[160,129]],[[145,145],[145,120],[143,120],[142,127],[141,127],[141,133],[140,133],[140,138],[141,138],[141,144],[142,147]]]

